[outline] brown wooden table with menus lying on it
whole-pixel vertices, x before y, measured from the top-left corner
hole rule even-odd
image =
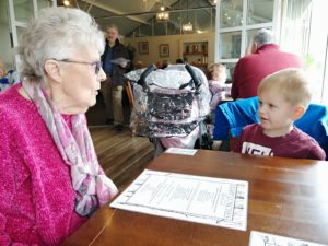
[[[250,231],[328,244],[327,162],[199,150],[195,156],[164,153],[148,168],[247,180],[247,231],[105,206],[63,245],[247,246]]]

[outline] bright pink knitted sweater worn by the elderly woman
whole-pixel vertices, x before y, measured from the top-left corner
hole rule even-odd
[[[0,93],[0,245],[59,245],[86,219],[74,212],[70,167],[20,87]]]

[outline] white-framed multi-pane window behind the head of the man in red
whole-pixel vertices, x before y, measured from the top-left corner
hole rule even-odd
[[[219,8],[215,60],[233,67],[259,28],[274,28],[278,0],[222,0]],[[278,7],[277,7],[278,8]]]

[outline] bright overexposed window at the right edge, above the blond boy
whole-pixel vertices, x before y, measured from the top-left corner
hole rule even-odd
[[[285,0],[282,9],[281,49],[295,52],[305,61],[313,101],[328,105],[327,0]],[[295,45],[297,44],[297,45]]]

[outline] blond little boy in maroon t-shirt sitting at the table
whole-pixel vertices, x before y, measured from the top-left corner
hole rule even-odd
[[[234,152],[325,160],[320,145],[294,126],[311,102],[303,71],[285,69],[266,77],[258,87],[258,97],[260,122],[243,129]]]

